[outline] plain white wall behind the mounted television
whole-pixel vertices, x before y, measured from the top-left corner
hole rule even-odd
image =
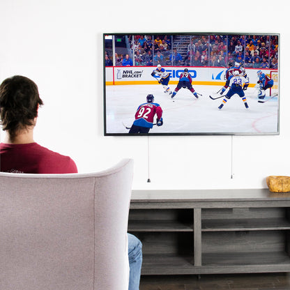
[[[134,189],[266,188],[266,176],[290,175],[287,2],[167,3],[0,1],[0,81],[20,74],[38,84],[36,142],[70,155],[80,172],[134,158]],[[102,33],[142,31],[281,33],[280,135],[104,137]]]

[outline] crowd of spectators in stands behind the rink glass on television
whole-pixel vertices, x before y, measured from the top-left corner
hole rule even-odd
[[[278,65],[278,37],[270,35],[128,36],[126,54],[115,54],[116,66],[215,66],[243,63],[245,68]],[[181,53],[183,48],[183,53]],[[128,61],[130,59],[130,61]],[[106,66],[112,66],[106,54]],[[132,64],[131,64],[132,63]]]

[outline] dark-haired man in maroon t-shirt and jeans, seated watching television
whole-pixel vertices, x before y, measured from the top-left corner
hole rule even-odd
[[[0,143],[0,171],[29,174],[77,173],[75,162],[68,156],[50,151],[33,139],[38,107],[43,105],[38,87],[16,75],[0,85],[0,118],[6,131]],[[130,264],[129,290],[139,289],[142,266],[142,243],[128,234]]]

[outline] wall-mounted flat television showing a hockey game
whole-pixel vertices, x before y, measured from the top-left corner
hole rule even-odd
[[[279,33],[104,33],[104,135],[278,135]]]

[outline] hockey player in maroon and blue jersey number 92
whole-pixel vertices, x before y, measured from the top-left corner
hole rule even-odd
[[[154,96],[150,94],[146,100],[147,102],[139,105],[137,109],[135,121],[129,131],[130,134],[148,133],[153,128],[155,114],[157,115],[156,125],[163,125],[162,109],[159,104],[154,102]]]

